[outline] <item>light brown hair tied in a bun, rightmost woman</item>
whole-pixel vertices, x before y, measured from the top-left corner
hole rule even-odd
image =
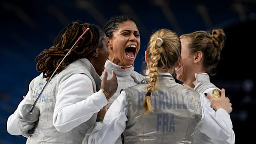
[[[216,66],[220,61],[220,51],[224,46],[226,38],[222,29],[213,29],[212,32],[196,31],[189,34],[183,34],[180,38],[189,38],[190,54],[201,51],[203,53],[203,62],[205,71],[209,75],[216,74]]]

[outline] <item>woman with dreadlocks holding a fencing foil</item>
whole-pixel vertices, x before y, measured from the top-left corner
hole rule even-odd
[[[26,144],[82,144],[97,113],[104,117],[100,109],[118,86],[114,72],[109,80],[108,73],[100,78],[108,55],[108,40],[98,26],[71,22],[53,46],[36,57],[36,70],[41,74],[30,82],[25,98],[9,116],[7,131],[27,137]],[[36,122],[30,122],[19,110],[24,104],[33,104],[42,89],[35,105],[40,115]]]

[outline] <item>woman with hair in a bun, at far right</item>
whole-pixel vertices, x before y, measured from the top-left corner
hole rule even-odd
[[[210,82],[209,75],[216,74],[216,66],[220,60],[220,52],[224,46],[226,36],[222,29],[214,29],[212,32],[196,31],[182,34],[181,61],[176,67],[176,78],[183,85],[192,88],[202,94],[209,93],[217,99],[220,89]],[[209,105],[211,105],[209,101]],[[193,144],[234,144],[235,134],[228,140],[220,141],[209,138],[196,127],[193,134]]]

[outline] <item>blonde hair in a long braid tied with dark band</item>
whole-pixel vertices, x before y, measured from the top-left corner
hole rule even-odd
[[[154,32],[148,42],[149,82],[146,88],[146,98],[142,102],[144,114],[153,111],[150,94],[158,87],[158,72],[173,73],[175,65],[180,60],[181,43],[178,35],[169,29]]]

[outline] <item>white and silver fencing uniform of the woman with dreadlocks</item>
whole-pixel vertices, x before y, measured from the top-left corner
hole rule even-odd
[[[107,104],[100,90],[101,79],[86,58],[72,62],[56,74],[45,87],[36,107],[39,120],[26,144],[79,144],[96,121],[97,112]],[[17,110],[8,118],[10,134],[19,131],[18,111],[24,104],[33,104],[46,83],[42,74],[30,83],[30,89]],[[96,92],[94,94],[94,92]]]

